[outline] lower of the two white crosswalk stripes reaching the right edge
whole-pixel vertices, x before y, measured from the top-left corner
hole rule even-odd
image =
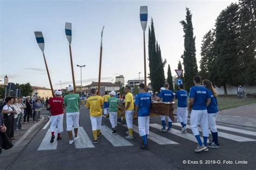
[[[173,123],[173,125],[176,126],[180,126],[180,123]],[[190,125],[187,125],[187,128],[191,128]],[[199,128],[199,131],[201,132],[201,128]],[[209,130],[209,133],[211,133],[211,131]],[[223,137],[226,139],[230,139],[230,140],[235,140],[235,141],[239,141],[239,142],[244,142],[244,141],[256,141],[255,139],[251,139],[251,138],[245,138],[245,137],[240,137],[238,135],[233,135],[233,134],[229,134],[229,133],[224,133],[224,132],[218,132],[218,136],[219,137]]]

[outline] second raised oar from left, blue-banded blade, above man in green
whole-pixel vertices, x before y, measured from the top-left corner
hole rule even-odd
[[[69,42],[69,53],[70,53],[73,87],[74,87],[74,93],[76,93],[76,82],[75,82],[75,74],[74,74],[73,59],[72,59],[72,52],[71,52],[71,40],[72,40],[72,24],[71,23],[65,24],[65,33],[66,33],[66,38],[68,39],[68,42]]]

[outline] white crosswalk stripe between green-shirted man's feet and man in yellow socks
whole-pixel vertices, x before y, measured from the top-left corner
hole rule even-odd
[[[75,133],[73,132],[73,135]],[[76,148],[94,148],[91,139],[88,137],[83,127],[78,127],[78,140],[75,141]]]

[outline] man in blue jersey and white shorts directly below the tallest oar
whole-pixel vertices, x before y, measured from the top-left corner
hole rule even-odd
[[[151,94],[145,91],[144,83],[139,84],[140,92],[135,100],[135,114],[138,115],[139,136],[143,139],[141,149],[147,149],[147,135],[149,134]]]

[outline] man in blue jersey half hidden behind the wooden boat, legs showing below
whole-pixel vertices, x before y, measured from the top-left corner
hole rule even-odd
[[[169,83],[165,83],[164,84],[164,90],[161,90],[159,96],[157,97],[156,101],[160,101],[162,99],[163,102],[171,102],[173,101],[173,92],[171,90],[169,90]],[[168,129],[165,130],[165,118],[168,118]],[[165,116],[165,115],[160,115],[161,118],[161,122],[162,122],[162,126],[163,128],[160,130],[160,132],[169,132],[171,133],[171,127],[172,127],[172,120],[169,116]]]

